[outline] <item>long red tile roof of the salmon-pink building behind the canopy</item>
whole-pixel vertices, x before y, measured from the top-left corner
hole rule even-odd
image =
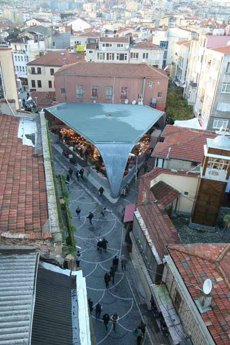
[[[34,61],[33,61],[34,62]],[[62,66],[55,74],[75,74],[78,76],[167,78],[163,70],[146,63],[100,63],[77,62]]]

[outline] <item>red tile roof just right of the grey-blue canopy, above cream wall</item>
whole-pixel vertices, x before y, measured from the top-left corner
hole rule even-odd
[[[167,125],[161,135],[165,137],[163,143],[157,143],[152,156],[189,160],[201,163],[204,152],[203,146],[207,138],[215,138],[216,134],[199,130]],[[169,152],[169,148],[170,152]]]

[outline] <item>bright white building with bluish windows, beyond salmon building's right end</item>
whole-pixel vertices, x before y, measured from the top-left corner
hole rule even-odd
[[[153,32],[152,42],[164,49],[163,68],[176,63],[179,52],[179,41],[191,40],[196,37],[196,33],[180,29],[169,28],[167,30],[156,30]]]

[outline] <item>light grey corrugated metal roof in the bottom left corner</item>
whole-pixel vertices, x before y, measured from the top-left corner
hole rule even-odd
[[[30,344],[39,254],[0,254],[0,345]]]

